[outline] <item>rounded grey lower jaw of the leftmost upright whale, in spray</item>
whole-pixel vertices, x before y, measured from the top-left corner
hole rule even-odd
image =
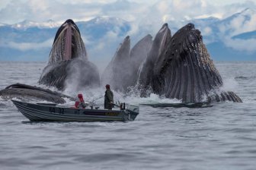
[[[90,61],[72,59],[47,65],[43,69],[39,83],[56,87],[58,90],[65,90],[69,84],[73,84],[73,90],[79,90],[85,87],[98,87],[100,75]]]

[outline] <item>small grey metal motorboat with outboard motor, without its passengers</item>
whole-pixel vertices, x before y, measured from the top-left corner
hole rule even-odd
[[[139,115],[139,106],[107,110],[91,106],[90,109],[69,108],[54,103],[31,103],[11,100],[30,121],[133,121]]]

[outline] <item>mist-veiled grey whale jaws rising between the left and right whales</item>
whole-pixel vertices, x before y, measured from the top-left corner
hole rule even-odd
[[[105,68],[101,77],[102,83],[111,83],[112,89],[122,92],[128,87],[133,87],[137,80],[134,75],[139,71],[139,66],[145,60],[151,45],[152,36],[147,35],[130,49],[130,36],[126,36]]]

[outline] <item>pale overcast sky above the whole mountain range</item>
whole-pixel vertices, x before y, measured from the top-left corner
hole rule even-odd
[[[194,17],[228,17],[244,8],[256,9],[256,0],[1,0],[0,23],[23,20],[75,21],[93,17],[124,20],[182,20]]]

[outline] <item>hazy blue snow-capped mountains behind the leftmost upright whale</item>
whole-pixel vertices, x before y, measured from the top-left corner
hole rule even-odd
[[[95,59],[106,54],[110,57],[130,30],[128,22],[116,17],[96,17],[75,23],[88,54]],[[43,23],[24,20],[18,24],[0,25],[0,60],[47,61],[61,24],[53,20]]]

